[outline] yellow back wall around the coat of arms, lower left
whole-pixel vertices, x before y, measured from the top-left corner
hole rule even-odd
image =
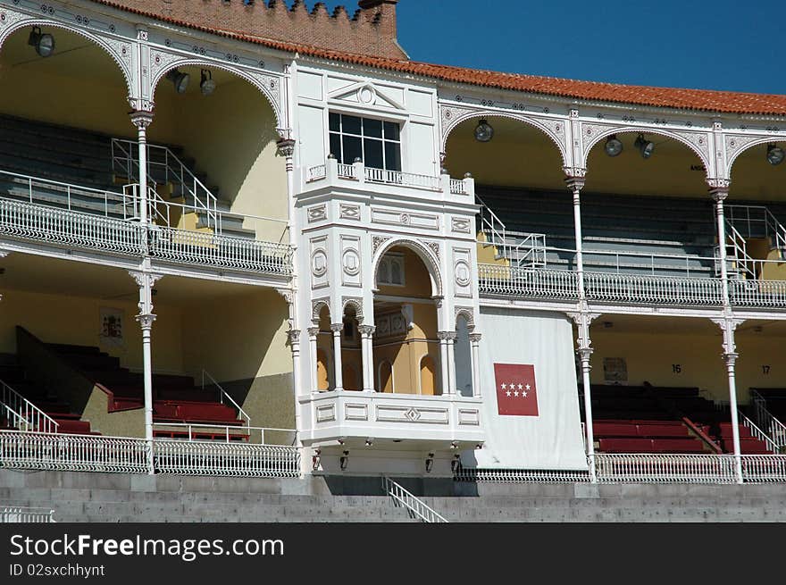
[[[97,346],[120,358],[121,366],[142,368],[142,334],[134,319],[135,301],[102,300],[31,293],[16,289],[0,291],[0,352],[16,352],[14,327],[21,325],[46,343]],[[101,345],[100,310],[113,307],[123,311],[122,347]],[[153,326],[153,360],[155,372],[183,371],[180,337],[180,309],[156,303],[158,315]]]

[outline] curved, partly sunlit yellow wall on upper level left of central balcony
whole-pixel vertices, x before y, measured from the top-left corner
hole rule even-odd
[[[191,71],[192,79],[198,78]],[[156,92],[157,96],[164,91]],[[286,220],[287,174],[276,155],[276,120],[267,99],[245,80],[222,84],[212,96],[179,96],[178,144],[208,176],[207,187],[221,188],[220,198],[233,213]],[[286,223],[248,219],[244,227],[257,237],[280,241]],[[286,241],[286,237],[284,239]]]

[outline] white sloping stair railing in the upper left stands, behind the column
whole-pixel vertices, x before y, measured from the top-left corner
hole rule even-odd
[[[147,176],[157,177],[159,182],[180,186],[185,193],[186,205],[195,213],[204,213],[208,228],[221,233],[218,221],[218,199],[197,176],[180,161],[167,146],[147,144]],[[135,140],[112,138],[112,161],[115,168],[128,172],[129,180],[139,179],[139,143]],[[155,181],[155,179],[154,179]]]

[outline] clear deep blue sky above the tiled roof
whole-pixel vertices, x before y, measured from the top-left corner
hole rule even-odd
[[[325,4],[346,5],[350,13],[357,5]],[[400,0],[398,40],[412,59],[430,63],[786,94],[786,24],[777,6],[759,0]]]

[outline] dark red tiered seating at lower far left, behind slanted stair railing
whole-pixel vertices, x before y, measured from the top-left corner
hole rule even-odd
[[[41,388],[29,380],[24,368],[17,362],[15,355],[0,355],[0,380],[19,392],[22,397],[38,406],[44,413],[57,422],[57,431],[71,435],[100,435],[90,428],[89,421],[82,421],[79,414],[71,413],[71,405],[60,400],[48,389]],[[0,428],[12,429],[9,421],[0,420]]]

